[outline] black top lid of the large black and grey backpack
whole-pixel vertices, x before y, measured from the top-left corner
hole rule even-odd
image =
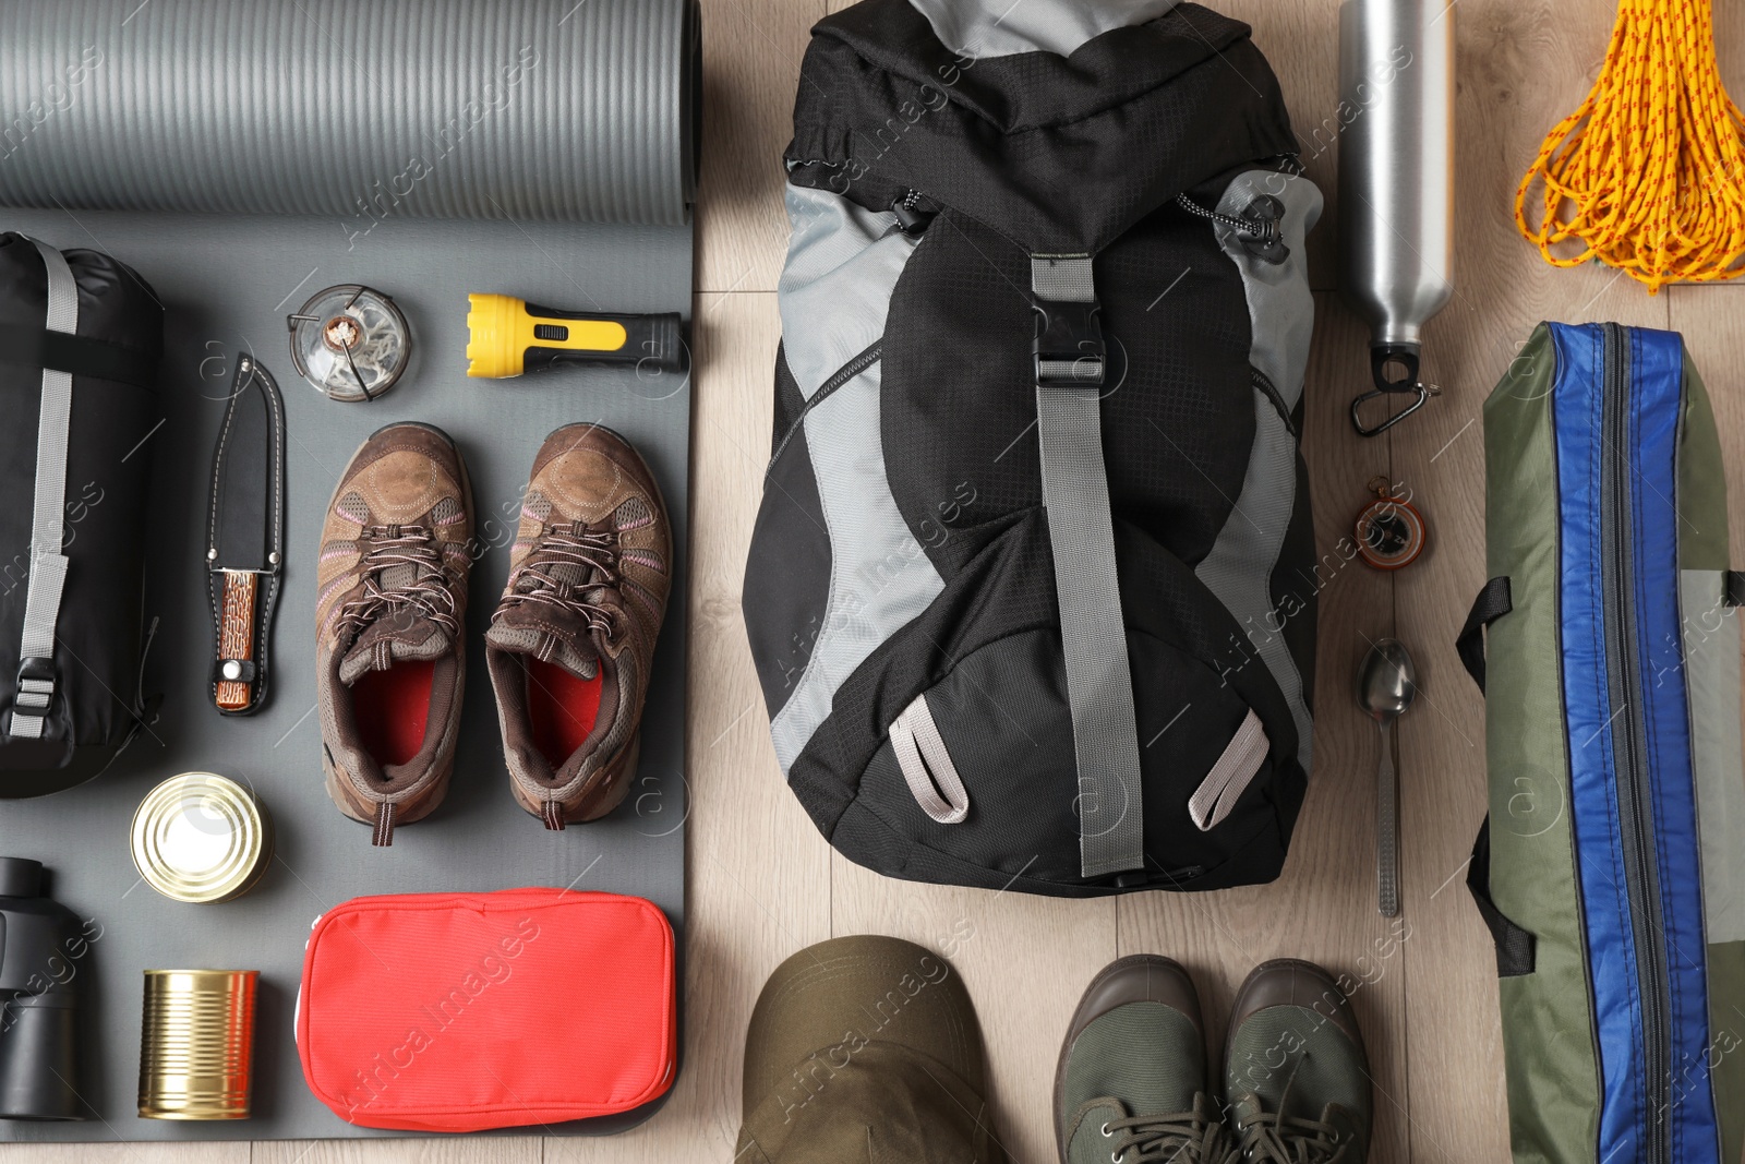
[[[918,192],[1030,253],[1096,253],[1176,194],[1298,148],[1241,21],[1169,0],[1024,0],[1023,23],[995,7],[1010,5],[864,0],[820,21],[790,178],[871,209]]]

